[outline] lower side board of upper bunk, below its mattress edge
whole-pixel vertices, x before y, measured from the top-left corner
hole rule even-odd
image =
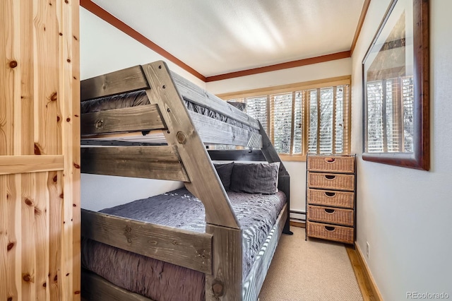
[[[196,112],[189,112],[203,143],[262,146],[261,135]]]

